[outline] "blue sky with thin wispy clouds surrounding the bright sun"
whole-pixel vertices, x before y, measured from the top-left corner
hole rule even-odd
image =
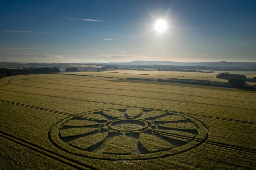
[[[256,62],[255,0],[1,0],[0,62]],[[164,20],[167,29],[157,32]]]

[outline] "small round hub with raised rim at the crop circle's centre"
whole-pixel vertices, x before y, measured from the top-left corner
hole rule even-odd
[[[138,119],[121,119],[109,123],[108,128],[117,131],[139,131],[146,129],[148,123]]]

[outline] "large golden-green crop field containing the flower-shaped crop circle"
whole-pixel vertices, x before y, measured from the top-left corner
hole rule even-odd
[[[1,169],[255,169],[256,93],[124,71],[0,79]]]

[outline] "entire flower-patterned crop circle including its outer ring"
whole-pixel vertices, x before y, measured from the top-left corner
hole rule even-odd
[[[187,152],[208,138],[200,121],[151,108],[116,108],[69,116],[49,131],[54,146],[93,159],[155,159]]]

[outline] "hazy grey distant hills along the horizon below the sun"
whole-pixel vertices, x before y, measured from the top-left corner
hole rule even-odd
[[[175,65],[175,66],[206,66],[206,67],[256,67],[256,62],[199,62],[183,63],[173,61],[132,61],[120,63],[107,63],[117,65]]]

